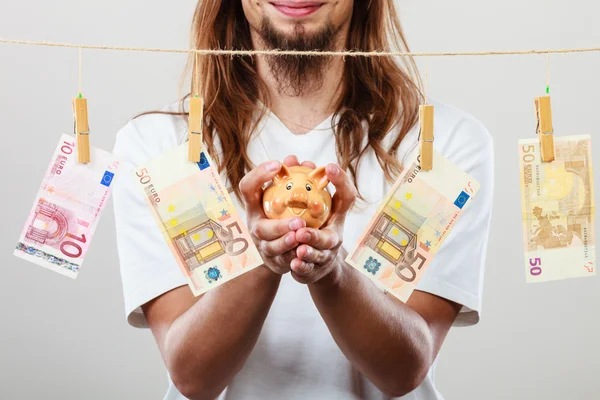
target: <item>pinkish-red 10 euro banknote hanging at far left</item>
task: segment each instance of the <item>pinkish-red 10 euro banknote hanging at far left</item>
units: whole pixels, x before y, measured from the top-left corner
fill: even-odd
[[[77,162],[76,138],[63,134],[13,254],[76,278],[119,169],[116,158],[90,147]]]

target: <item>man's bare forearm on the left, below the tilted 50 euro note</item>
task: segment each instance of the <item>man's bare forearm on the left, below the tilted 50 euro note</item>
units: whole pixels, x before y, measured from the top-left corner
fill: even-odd
[[[191,399],[213,399],[254,348],[281,277],[264,266],[215,288],[183,313],[166,338],[169,370]]]

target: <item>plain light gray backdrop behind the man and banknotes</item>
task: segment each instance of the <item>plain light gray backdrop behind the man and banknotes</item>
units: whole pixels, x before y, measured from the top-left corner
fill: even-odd
[[[2,38],[172,48],[188,47],[195,6],[1,1]],[[597,2],[399,4],[415,51],[600,45]],[[185,56],[88,50],[83,61],[92,140],[110,150],[128,118],[177,99]],[[598,65],[598,53],[551,57],[557,134],[598,132]],[[481,119],[496,150],[483,320],[446,340],[437,382],[447,399],[598,398],[598,278],[525,284],[517,139],[534,137],[545,72],[540,55],[429,59],[429,95]],[[112,204],[77,280],[12,256],[59,135],[72,130],[76,91],[77,50],[0,44],[0,397],[159,399],[167,381],[154,340],[124,320]]]

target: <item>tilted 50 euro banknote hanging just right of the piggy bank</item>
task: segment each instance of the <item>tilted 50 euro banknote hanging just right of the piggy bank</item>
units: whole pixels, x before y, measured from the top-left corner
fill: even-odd
[[[346,262],[406,302],[480,184],[440,153],[434,168],[418,159],[406,168],[377,209]]]

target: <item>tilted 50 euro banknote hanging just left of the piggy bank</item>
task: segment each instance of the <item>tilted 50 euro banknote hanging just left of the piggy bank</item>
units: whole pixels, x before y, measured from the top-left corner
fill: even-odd
[[[195,296],[263,264],[206,152],[189,162],[184,143],[132,173]]]

